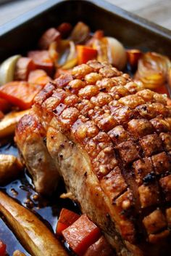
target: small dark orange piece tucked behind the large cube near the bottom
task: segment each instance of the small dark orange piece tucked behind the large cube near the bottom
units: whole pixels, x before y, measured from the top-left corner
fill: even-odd
[[[61,236],[62,231],[65,228],[69,227],[75,220],[78,220],[80,215],[77,215],[75,212],[70,211],[69,209],[62,209],[59,215],[59,220],[57,223],[56,233]]]

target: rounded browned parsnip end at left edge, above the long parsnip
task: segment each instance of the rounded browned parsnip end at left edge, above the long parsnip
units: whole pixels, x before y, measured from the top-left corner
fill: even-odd
[[[0,155],[0,185],[17,177],[22,170],[22,164],[17,157]]]

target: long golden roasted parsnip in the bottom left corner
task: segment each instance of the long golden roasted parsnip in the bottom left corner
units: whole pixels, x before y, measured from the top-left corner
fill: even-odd
[[[32,256],[67,256],[59,241],[38,217],[0,191],[0,212]]]

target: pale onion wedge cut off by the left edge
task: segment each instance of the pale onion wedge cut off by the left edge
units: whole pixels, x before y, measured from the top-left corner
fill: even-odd
[[[17,63],[17,60],[21,55],[14,55],[9,57],[7,60],[4,60],[0,66],[0,86],[6,84],[9,81],[14,79],[14,70]]]

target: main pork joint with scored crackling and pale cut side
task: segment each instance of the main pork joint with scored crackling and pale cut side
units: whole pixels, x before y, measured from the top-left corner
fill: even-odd
[[[46,131],[67,190],[117,255],[170,255],[171,115],[165,95],[142,90],[128,74],[94,60],[47,84],[32,115]],[[27,163],[19,141],[25,119],[16,138]],[[54,187],[57,180],[51,181]]]

